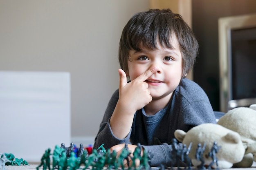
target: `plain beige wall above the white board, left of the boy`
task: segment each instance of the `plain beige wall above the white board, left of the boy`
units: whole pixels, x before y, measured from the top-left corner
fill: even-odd
[[[121,31],[148,8],[148,0],[1,0],[0,70],[70,72],[71,135],[94,137],[119,85]]]

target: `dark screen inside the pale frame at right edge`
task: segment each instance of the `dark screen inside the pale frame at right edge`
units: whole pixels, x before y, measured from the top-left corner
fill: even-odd
[[[232,98],[256,98],[256,28],[231,30]]]

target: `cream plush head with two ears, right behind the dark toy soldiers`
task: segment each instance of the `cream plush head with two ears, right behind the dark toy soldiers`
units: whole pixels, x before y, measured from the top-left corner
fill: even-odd
[[[204,160],[204,166],[209,166],[214,161],[210,154],[213,143],[215,142],[220,146],[216,153],[218,167],[214,163],[211,168],[231,168],[234,163],[242,161],[245,154],[245,147],[240,135],[218,124],[201,124],[191,128],[188,132],[175,130],[174,135],[178,141],[186,144],[186,146],[192,143],[189,157],[193,166],[199,169],[202,169],[200,168],[202,162],[200,158],[197,159],[196,157],[200,152],[198,144],[201,145],[201,149],[203,148],[201,151],[203,151],[202,160]]]

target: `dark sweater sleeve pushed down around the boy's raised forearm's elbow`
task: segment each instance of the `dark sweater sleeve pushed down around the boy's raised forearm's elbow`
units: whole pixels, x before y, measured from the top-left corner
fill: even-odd
[[[99,127],[99,132],[94,139],[93,148],[95,149],[99,148],[99,146],[101,146],[102,144],[104,144],[105,149],[111,148],[112,146],[115,146],[117,144],[130,144],[129,139],[131,130],[125,139],[118,139],[117,137],[115,137],[110,127],[110,117],[112,116],[115,110],[115,106],[117,104],[118,99],[119,95],[117,90],[108,102],[108,106],[106,108],[105,114]]]

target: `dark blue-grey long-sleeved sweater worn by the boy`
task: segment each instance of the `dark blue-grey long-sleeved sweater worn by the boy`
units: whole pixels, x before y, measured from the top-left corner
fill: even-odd
[[[94,148],[105,144],[108,149],[117,144],[140,143],[144,149],[153,153],[151,166],[161,163],[171,166],[171,141],[174,131],[187,132],[194,126],[216,123],[216,118],[207,95],[203,89],[189,79],[182,79],[166,106],[153,116],[147,116],[144,109],[138,110],[133,119],[130,133],[125,139],[116,138],[110,128],[109,119],[118,101],[118,90],[112,95],[95,137]]]

